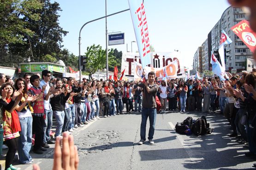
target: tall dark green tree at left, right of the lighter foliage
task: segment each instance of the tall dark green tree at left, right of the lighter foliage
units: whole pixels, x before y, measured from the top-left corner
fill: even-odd
[[[26,28],[30,29],[35,34],[24,34],[23,41],[26,43],[20,43],[11,45],[10,49],[14,54],[22,54],[23,56],[33,56],[31,60],[33,62],[45,62],[44,57],[51,55],[52,57],[60,57],[63,53],[61,48],[62,36],[65,36],[68,32],[63,30],[58,21],[61,11],[60,5],[57,2],[51,3],[50,0],[42,0],[42,9],[31,10],[30,13],[40,14],[39,20],[31,20],[27,14],[24,14],[22,18],[23,22],[26,22]],[[17,48],[18,46],[18,48]],[[32,51],[32,52],[31,52]],[[65,51],[64,51],[65,52]]]

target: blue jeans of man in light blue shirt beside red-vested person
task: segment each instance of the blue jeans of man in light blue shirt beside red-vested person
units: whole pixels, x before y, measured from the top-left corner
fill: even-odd
[[[43,143],[47,143],[47,141],[51,140],[51,128],[53,125],[53,111],[44,109],[45,114],[45,125],[43,125]]]

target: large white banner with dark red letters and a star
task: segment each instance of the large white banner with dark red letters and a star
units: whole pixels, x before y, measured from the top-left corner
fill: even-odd
[[[153,68],[163,68],[177,60],[177,78],[185,78],[184,66],[178,52],[150,52],[150,55],[152,56],[151,67]],[[139,53],[123,53],[121,70],[125,69],[126,77],[134,77],[134,62],[141,63]]]

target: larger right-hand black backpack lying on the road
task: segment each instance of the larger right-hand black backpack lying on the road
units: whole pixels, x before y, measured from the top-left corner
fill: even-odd
[[[201,118],[196,119],[193,123],[192,132],[196,136],[211,134],[213,129],[209,128],[209,126],[210,125],[207,123],[206,117],[202,116]]]

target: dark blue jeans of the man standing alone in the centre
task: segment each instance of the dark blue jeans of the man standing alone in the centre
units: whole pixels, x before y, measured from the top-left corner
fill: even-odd
[[[155,132],[155,119],[156,119],[156,108],[142,108],[141,113],[141,125],[140,125],[140,138],[146,141],[146,125],[149,117],[149,137],[153,139]]]

